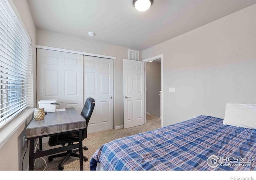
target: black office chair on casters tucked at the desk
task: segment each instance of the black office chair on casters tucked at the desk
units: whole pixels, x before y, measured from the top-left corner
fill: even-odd
[[[88,122],[92,116],[94,106],[95,106],[94,98],[87,98],[86,102],[84,103],[84,108],[81,112],[81,115],[84,117],[84,119],[86,119],[87,127],[88,127]],[[82,131],[82,133],[83,133],[83,140],[84,140],[85,138],[87,138],[87,128],[85,128]],[[79,132],[72,132],[72,133],[67,133],[67,134],[50,136],[48,144],[49,144],[49,146],[56,146],[56,145],[60,145],[60,144],[62,146],[64,146],[65,144],[72,145],[74,142],[79,142]],[[88,148],[86,146],[83,146],[83,149],[88,150]],[[79,148],[74,149],[74,150],[68,150],[67,152],[61,153],[61,154],[54,154],[52,156],[49,156],[48,160],[52,161],[53,158],[65,156],[65,158],[62,160],[62,162],[59,164],[59,170],[63,170],[64,169],[63,164],[66,162],[66,160],[70,156],[79,158],[79,154],[76,153],[78,151],[79,151]],[[88,161],[88,158],[86,158],[86,156],[83,156],[83,159],[84,159],[84,161]]]

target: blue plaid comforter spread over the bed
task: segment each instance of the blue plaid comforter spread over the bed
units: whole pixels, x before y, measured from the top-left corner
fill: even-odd
[[[198,116],[103,144],[90,170],[256,170],[255,156],[256,130]]]

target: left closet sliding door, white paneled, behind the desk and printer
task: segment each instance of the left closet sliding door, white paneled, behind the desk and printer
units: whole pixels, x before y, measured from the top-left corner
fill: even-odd
[[[83,55],[54,50],[37,50],[37,99],[56,99],[60,108],[83,104]]]

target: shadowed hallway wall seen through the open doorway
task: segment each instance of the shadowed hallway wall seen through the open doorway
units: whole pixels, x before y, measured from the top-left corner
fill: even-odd
[[[147,112],[160,117],[161,62],[146,62]]]

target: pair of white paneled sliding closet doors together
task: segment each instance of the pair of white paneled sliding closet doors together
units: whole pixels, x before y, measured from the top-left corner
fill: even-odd
[[[56,99],[60,108],[74,107],[80,113],[87,98],[96,106],[88,132],[113,128],[113,59],[40,49],[38,59],[38,100]]]

